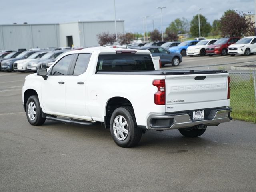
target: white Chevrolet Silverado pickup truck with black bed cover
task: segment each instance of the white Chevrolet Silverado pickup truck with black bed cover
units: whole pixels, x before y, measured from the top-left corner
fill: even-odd
[[[136,146],[145,130],[178,129],[186,137],[230,121],[226,70],[155,70],[146,50],[87,48],[66,52],[26,77],[28,122],[45,120],[110,128],[121,147]]]

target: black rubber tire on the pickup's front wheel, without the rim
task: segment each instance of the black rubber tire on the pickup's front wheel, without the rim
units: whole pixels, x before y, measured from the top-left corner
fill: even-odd
[[[35,112],[36,112],[36,115],[34,117],[34,120],[32,120],[30,118],[31,116],[31,113],[30,113],[30,109],[28,108],[28,106],[33,103],[34,106],[35,106]],[[28,98],[28,101],[27,101],[27,104],[26,104],[26,116],[27,116],[27,119],[28,119],[28,122],[31,124],[31,125],[34,125],[34,126],[40,126],[42,124],[44,124],[45,122],[45,118],[42,117],[42,109],[40,107],[40,103],[39,103],[39,100],[38,100],[38,96],[36,95],[32,95]]]

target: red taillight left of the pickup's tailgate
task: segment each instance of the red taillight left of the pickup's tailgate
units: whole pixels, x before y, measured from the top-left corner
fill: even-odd
[[[157,87],[157,92],[155,93],[155,104],[165,105],[165,80],[154,80],[153,85]]]

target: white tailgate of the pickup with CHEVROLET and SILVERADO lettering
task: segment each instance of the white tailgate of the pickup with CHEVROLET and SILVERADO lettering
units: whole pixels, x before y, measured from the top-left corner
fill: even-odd
[[[228,73],[166,76],[166,112],[229,105]]]

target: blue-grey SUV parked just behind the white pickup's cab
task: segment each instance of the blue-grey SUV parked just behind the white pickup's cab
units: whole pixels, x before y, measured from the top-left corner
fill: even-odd
[[[149,50],[153,57],[160,57],[162,66],[172,64],[178,66],[182,62],[182,56],[179,53],[172,53],[168,49],[160,46],[141,47],[143,50]]]

